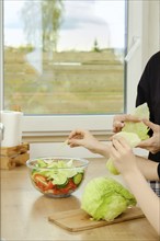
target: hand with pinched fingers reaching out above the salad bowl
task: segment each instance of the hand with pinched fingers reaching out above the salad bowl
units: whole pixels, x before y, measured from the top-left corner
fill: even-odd
[[[76,129],[68,137],[67,144],[73,147],[84,147],[93,153],[108,157],[108,147],[100,142],[89,130]]]

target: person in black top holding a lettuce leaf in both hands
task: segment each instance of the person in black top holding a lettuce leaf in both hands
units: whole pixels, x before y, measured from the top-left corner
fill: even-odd
[[[145,124],[150,128],[151,138],[144,140],[138,147],[149,150],[148,159],[160,162],[160,51],[151,56],[147,62],[137,87],[136,106],[148,104],[150,122]],[[124,127],[125,120],[134,120],[129,115],[115,116],[113,122],[114,131]],[[160,182],[150,182],[153,191],[160,196]]]

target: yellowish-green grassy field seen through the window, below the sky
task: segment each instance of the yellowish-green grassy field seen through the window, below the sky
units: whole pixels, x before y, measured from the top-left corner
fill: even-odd
[[[26,114],[121,113],[124,65],[112,49],[50,56],[7,48],[4,96],[5,108],[20,105]]]

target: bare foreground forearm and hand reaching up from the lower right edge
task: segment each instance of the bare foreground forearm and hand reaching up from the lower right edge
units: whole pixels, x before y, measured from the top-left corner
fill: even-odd
[[[119,138],[118,140],[113,139],[113,146],[111,147],[111,157],[114,161],[115,167],[122,173],[124,180],[127,182],[130,191],[135,195],[147,219],[157,230],[158,234],[160,234],[160,199],[150,188],[145,176],[140,172],[140,169],[145,163],[140,164],[141,159],[134,156],[128,144],[122,138]],[[155,180],[157,180],[158,164],[156,162],[153,163]],[[149,162],[146,162],[146,170],[150,168],[150,165],[148,164]]]

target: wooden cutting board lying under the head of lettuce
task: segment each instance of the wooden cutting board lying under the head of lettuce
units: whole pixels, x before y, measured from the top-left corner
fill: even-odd
[[[124,214],[115,218],[113,221],[92,220],[91,217],[82,209],[58,211],[49,216],[48,220],[68,231],[77,232],[144,217],[145,215],[138,207],[133,207],[128,208]]]

